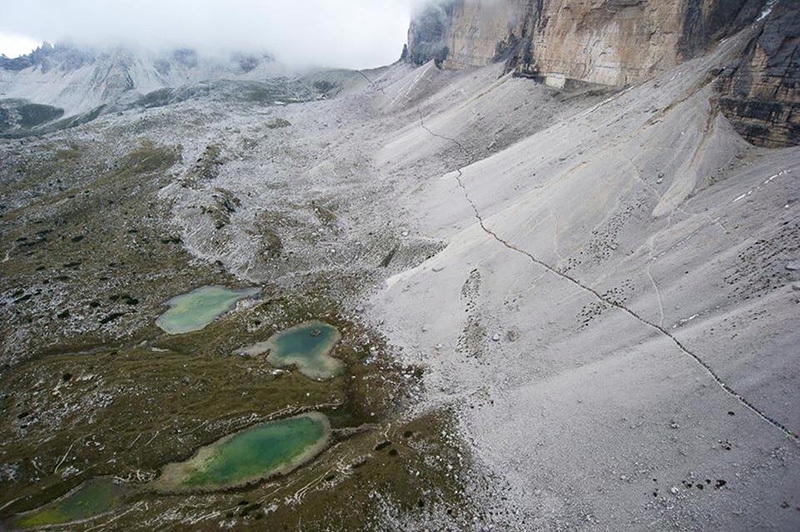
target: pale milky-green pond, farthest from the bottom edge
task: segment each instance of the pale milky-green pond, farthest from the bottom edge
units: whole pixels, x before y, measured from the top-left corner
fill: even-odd
[[[170,309],[156,320],[156,325],[169,334],[199,331],[231,310],[240,299],[258,292],[257,288],[231,290],[224,286],[204,286],[167,301]]]

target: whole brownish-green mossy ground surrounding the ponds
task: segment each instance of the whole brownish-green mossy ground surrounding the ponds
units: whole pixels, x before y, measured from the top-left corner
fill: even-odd
[[[83,148],[52,153],[28,166],[21,160],[39,174],[23,172],[9,186],[21,190],[25,180],[55,175],[65,176],[62,184],[0,220],[0,249],[8,250],[0,280],[0,519],[98,476],[136,487],[112,517],[120,528],[207,529],[225,521],[235,529],[298,522],[361,529],[396,509],[458,506],[451,470],[431,464],[431,457],[458,464],[441,437],[446,420],[399,421],[421,370],[394,363],[379,332],[341,305],[362,289],[366,273],[298,272],[201,331],[166,335],[154,320],[171,297],[207,284],[244,286],[193,259],[170,230],[169,206],[157,193],[173,179],[179,147],[134,144],[96,176],[72,180],[68,169],[86,161]],[[347,365],[343,375],[319,382],[276,372],[264,357],[233,354],[310,319],[342,333],[333,355]],[[309,410],[330,418],[336,442],[285,478],[202,496],[146,488],[159,468],[203,445]]]

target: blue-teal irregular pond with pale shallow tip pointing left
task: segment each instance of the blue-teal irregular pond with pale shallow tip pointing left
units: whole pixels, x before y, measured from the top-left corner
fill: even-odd
[[[271,336],[240,353],[261,355],[269,351],[267,360],[273,366],[297,369],[312,379],[330,379],[344,371],[344,362],[330,356],[342,335],[336,327],[321,321],[301,323]]]

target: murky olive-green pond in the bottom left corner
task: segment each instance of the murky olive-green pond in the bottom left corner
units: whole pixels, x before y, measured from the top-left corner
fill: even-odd
[[[14,524],[32,528],[83,521],[110,512],[123,502],[124,495],[124,489],[111,480],[92,479],[47,506],[20,516]]]

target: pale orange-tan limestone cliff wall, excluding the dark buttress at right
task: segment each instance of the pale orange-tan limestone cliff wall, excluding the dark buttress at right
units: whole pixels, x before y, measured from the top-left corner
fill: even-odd
[[[766,1],[446,0],[415,17],[409,52],[419,62],[435,51],[450,68],[509,60],[523,75],[625,85],[705,51]],[[419,31],[434,18],[439,33]]]

